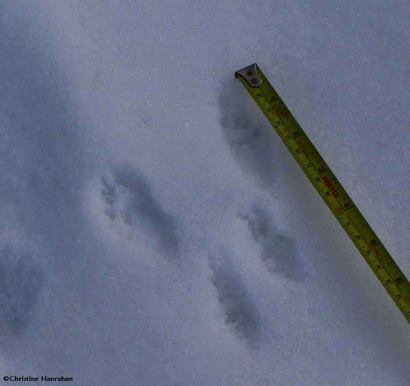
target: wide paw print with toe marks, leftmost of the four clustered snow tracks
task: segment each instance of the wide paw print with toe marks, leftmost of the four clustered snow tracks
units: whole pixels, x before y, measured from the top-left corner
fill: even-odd
[[[163,252],[175,252],[179,245],[176,219],[152,195],[149,181],[128,164],[112,166],[99,180],[104,213],[122,234],[140,231]]]

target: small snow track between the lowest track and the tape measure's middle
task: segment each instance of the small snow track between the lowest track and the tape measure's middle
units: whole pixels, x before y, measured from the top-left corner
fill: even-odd
[[[260,256],[269,272],[281,274],[287,279],[304,278],[303,261],[297,248],[296,239],[285,231],[278,230],[267,210],[253,205],[245,213],[239,213],[247,221],[254,240],[260,246]]]

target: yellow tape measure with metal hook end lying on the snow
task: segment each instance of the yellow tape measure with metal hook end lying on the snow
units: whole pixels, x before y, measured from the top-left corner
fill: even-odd
[[[256,63],[235,72],[410,323],[410,283]]]

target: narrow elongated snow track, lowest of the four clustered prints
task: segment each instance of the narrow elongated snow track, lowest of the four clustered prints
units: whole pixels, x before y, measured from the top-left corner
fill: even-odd
[[[259,334],[260,316],[247,286],[234,268],[230,256],[222,249],[210,252],[208,264],[211,282],[216,288],[224,319],[240,338],[252,345]]]

